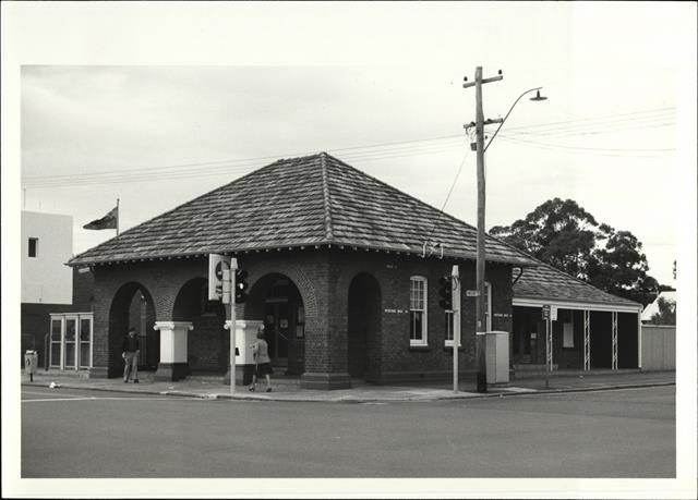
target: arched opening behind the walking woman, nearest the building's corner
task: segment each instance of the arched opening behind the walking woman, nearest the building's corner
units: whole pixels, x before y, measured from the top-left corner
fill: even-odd
[[[275,367],[288,375],[305,370],[305,308],[290,278],[275,272],[257,280],[250,290],[244,317],[264,321]]]

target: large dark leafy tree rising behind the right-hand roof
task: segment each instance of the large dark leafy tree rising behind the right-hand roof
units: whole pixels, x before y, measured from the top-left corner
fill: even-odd
[[[660,289],[647,275],[642,244],[629,231],[599,223],[573,199],[550,199],[490,233],[614,295],[647,305]]]

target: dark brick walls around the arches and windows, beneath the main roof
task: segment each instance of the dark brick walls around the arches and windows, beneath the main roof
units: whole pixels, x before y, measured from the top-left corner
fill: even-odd
[[[348,295],[351,281],[359,273],[375,278],[381,292],[377,339],[372,343],[373,357],[369,378],[387,381],[396,378],[447,376],[453,367],[453,349],[445,347],[445,315],[438,306],[438,278],[450,273],[453,260],[422,259],[417,256],[352,251],[293,249],[248,253],[238,256],[238,264],[249,272],[250,301],[237,305],[240,319],[262,319],[255,284],[270,272],[288,277],[298,288],[305,308],[304,365],[306,373],[348,373]],[[473,261],[461,261],[464,290],[474,289]],[[111,266],[98,266],[95,271],[95,366],[104,375],[118,375],[120,330],[125,328],[119,315],[139,286],[153,304],[156,320],[171,320],[180,290],[192,279],[206,279],[207,258],[154,260]],[[410,277],[428,279],[428,345],[410,347],[409,298]],[[486,280],[493,286],[494,330],[512,329],[510,266],[489,264]],[[459,366],[474,369],[474,298],[462,294],[462,349]],[[183,319],[183,318],[178,318]],[[189,353],[198,366],[220,367],[221,357],[212,351],[221,349],[215,318],[194,320],[189,334]],[[111,328],[112,338],[107,336]],[[225,337],[225,336],[224,336]],[[225,342],[225,340],[224,340]],[[226,353],[227,364],[227,349]],[[376,366],[378,365],[378,366]],[[96,370],[99,371],[99,370]]]

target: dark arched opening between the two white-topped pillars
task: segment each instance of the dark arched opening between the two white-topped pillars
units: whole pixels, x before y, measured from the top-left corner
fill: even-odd
[[[172,308],[173,321],[190,321],[186,363],[194,374],[225,374],[228,369],[230,337],[225,329],[226,309],[220,301],[208,300],[208,281],[189,280],[180,289]]]

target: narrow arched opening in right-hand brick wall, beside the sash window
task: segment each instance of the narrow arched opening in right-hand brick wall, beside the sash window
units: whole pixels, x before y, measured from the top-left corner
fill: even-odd
[[[371,380],[380,370],[381,286],[365,272],[349,284],[347,306],[349,376]]]

